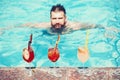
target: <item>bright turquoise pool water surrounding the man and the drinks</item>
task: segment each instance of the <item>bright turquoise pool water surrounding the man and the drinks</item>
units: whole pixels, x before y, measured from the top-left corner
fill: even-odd
[[[31,66],[49,67],[54,64],[47,57],[55,46],[57,35],[45,29],[20,26],[25,23],[48,22],[52,5],[61,3],[70,21],[101,24],[110,29],[89,29],[90,58],[86,67],[120,66],[120,0],[1,0],[0,1],[0,67],[25,67],[22,50],[33,34],[35,58]],[[117,30],[116,30],[117,29]],[[77,58],[78,47],[84,46],[86,30],[60,35],[60,58],[55,66],[82,67]]]

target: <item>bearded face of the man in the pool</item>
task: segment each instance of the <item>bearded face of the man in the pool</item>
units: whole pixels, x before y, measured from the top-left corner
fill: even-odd
[[[66,16],[63,11],[51,12],[51,25],[55,29],[60,29],[65,26]]]

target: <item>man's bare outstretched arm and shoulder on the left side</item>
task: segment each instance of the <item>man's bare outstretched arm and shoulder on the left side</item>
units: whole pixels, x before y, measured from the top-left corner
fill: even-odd
[[[41,23],[25,23],[22,26],[34,27],[34,28],[47,28],[50,27],[50,22],[41,22]]]

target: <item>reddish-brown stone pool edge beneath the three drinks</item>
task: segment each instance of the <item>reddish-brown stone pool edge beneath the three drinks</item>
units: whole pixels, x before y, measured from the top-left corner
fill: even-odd
[[[0,68],[0,80],[120,80],[120,68]]]

